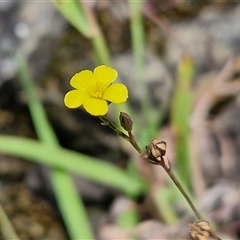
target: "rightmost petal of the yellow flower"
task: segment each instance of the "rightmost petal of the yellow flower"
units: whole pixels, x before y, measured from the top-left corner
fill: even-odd
[[[127,87],[121,83],[110,85],[103,94],[103,99],[113,103],[123,103],[128,98]]]

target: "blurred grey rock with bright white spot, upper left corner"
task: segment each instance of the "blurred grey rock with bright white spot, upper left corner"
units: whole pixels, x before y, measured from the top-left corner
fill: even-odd
[[[37,76],[46,67],[66,21],[49,1],[0,3],[0,84],[16,75],[12,58],[20,51]]]

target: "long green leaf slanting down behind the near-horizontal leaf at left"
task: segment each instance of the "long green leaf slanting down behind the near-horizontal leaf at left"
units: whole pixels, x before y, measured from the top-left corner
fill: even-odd
[[[37,135],[44,145],[55,149],[59,146],[58,139],[47,119],[44,108],[37,97],[33,82],[28,73],[25,59],[22,58],[21,55],[17,55],[16,59],[19,65],[20,79],[28,98],[28,106]],[[26,145],[25,147],[30,146]],[[50,151],[48,154],[51,154]],[[70,237],[72,239],[93,239],[93,233],[91,231],[82,199],[79,196],[77,188],[73,184],[69,173],[64,172],[64,169],[51,168],[50,179],[58,206]],[[70,204],[70,202],[72,204]],[[82,226],[84,226],[83,228],[80,228],[77,225],[79,222],[81,222]]]

